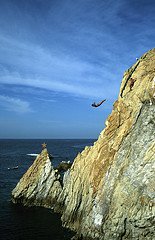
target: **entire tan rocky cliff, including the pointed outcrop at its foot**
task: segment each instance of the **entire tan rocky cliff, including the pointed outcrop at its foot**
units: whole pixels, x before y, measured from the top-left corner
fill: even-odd
[[[63,187],[51,168],[36,159],[14,201],[59,206],[63,225],[81,238],[155,239],[155,49],[125,72],[105,129],[75,158]]]

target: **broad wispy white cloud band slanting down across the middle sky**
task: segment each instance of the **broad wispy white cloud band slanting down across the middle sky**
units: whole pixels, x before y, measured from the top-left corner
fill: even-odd
[[[6,36],[0,37],[0,51],[2,84],[83,97],[112,96],[116,94],[112,89],[118,89],[118,83],[114,81],[116,72],[106,71],[105,65],[91,63],[66,52],[48,51],[37,44],[26,44]],[[11,65],[13,70],[6,68],[5,64]]]

